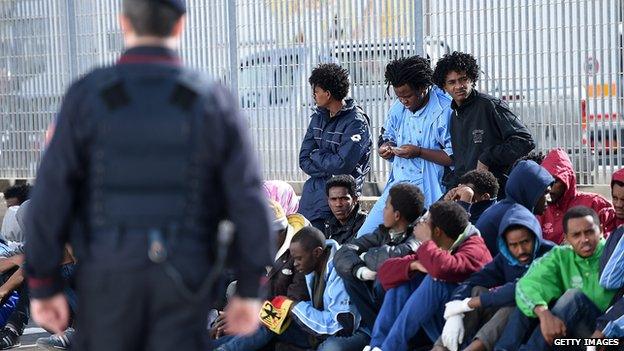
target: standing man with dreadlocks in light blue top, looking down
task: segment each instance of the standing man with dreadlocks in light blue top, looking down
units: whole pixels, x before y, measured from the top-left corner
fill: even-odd
[[[388,183],[358,237],[372,233],[383,222],[390,188],[409,182],[425,194],[429,207],[444,193],[444,167],[452,164],[449,119],[451,100],[431,77],[429,61],[420,56],[400,58],[386,66],[386,83],[397,96],[388,111],[379,140],[379,156],[392,163]]]

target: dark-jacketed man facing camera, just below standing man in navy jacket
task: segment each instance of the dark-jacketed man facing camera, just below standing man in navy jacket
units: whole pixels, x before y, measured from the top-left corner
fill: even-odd
[[[325,237],[343,245],[355,239],[366,220],[366,212],[360,211],[357,184],[350,175],[338,175],[325,184],[325,194],[332,215],[325,221]]]

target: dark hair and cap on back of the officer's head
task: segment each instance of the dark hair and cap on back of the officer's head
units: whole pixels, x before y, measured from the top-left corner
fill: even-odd
[[[153,0],[123,0],[123,14],[137,35],[165,38],[182,14],[171,6]]]

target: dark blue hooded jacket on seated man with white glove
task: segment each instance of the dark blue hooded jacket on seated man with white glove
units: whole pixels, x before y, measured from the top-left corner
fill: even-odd
[[[555,246],[554,243],[542,238],[542,228],[537,218],[524,206],[513,204],[507,210],[499,226],[498,247],[500,251],[498,255],[482,270],[471,275],[468,280],[457,287],[451,300],[463,300],[470,297],[472,288],[481,286],[490,289],[490,291],[480,295],[481,305],[484,308],[515,305],[516,281],[529,268],[529,266],[521,265],[509,252],[503,237],[507,228],[515,225],[528,228],[535,235],[533,260],[542,257]]]

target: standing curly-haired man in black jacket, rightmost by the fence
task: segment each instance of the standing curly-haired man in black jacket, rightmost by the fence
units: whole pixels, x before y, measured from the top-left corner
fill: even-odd
[[[455,170],[446,179],[447,188],[457,186],[459,178],[473,169],[492,172],[505,197],[505,183],[511,166],[535,147],[531,133],[502,100],[474,89],[479,79],[475,58],[453,52],[440,59],[433,81],[453,98],[451,143]]]

